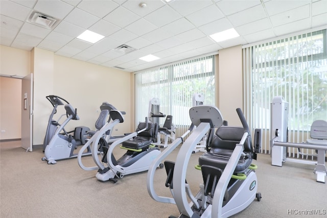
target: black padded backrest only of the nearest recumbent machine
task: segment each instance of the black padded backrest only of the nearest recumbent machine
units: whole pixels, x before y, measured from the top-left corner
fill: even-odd
[[[213,149],[227,149],[234,150],[237,143],[241,141],[244,134],[243,127],[221,126],[217,129],[208,147]],[[248,135],[244,142],[244,152],[252,152],[252,140]]]

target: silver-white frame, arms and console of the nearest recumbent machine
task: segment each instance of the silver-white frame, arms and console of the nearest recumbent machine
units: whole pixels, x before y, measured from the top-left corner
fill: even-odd
[[[197,199],[203,193],[204,185],[200,185],[200,191],[196,197],[192,195],[190,187],[185,183],[186,169],[192,154],[193,149],[211,128],[219,128],[223,124],[223,118],[219,109],[215,106],[196,106],[190,109],[190,117],[192,125],[197,128],[192,130],[191,128],[180,138],[174,140],[168,148],[165,149],[151,164],[148,176],[147,176],[147,188],[149,195],[152,199],[162,203],[176,204],[180,211],[179,217],[200,217],[193,210],[192,206],[199,208]],[[212,118],[212,119],[211,119]],[[209,121],[210,119],[210,121]],[[183,138],[192,131],[192,134],[183,142]],[[215,195],[212,204],[206,207],[201,218],[208,217],[228,217],[244,210],[256,197],[256,175],[254,171],[247,175],[247,181],[241,184],[237,192],[227,204],[223,206],[224,193],[227,189],[228,183],[231,179],[233,172],[238,164],[238,160],[244,151],[244,142],[248,136],[245,132],[240,143],[238,143],[233,150],[232,155],[218,181],[215,189]],[[164,160],[180,143],[182,146],[177,154],[176,163],[174,167],[173,186],[172,191],[173,198],[158,196],[154,190],[154,173],[158,163]],[[249,187],[251,187],[249,189]],[[187,196],[186,196],[187,195]],[[203,195],[202,195],[203,196]],[[191,202],[188,201],[188,197]],[[205,206],[205,203],[201,205]]]

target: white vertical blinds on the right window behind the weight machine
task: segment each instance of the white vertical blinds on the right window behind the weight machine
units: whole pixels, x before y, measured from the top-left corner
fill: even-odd
[[[262,152],[269,152],[270,103],[283,96],[289,103],[288,141],[310,137],[314,120],[327,120],[326,30],[298,34],[243,49],[246,118],[263,131]],[[306,154],[306,155],[303,155]],[[288,148],[288,155],[313,159],[313,150]]]

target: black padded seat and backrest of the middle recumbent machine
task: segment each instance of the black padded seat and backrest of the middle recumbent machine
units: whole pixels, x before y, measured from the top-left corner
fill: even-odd
[[[136,132],[144,129],[146,127],[145,122],[138,124]],[[122,143],[122,146],[129,149],[144,149],[148,148],[150,144],[154,141],[156,137],[158,128],[154,123],[148,123],[148,128],[137,134],[134,138],[128,139]]]

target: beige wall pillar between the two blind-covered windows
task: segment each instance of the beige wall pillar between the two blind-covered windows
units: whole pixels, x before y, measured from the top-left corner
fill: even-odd
[[[230,126],[241,126],[236,108],[243,110],[242,46],[219,50],[218,106]]]

